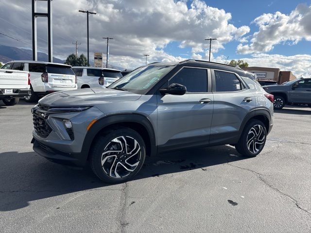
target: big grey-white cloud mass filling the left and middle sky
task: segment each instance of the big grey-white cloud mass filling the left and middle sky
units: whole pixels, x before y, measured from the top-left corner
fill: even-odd
[[[180,47],[190,47],[192,53],[206,52],[208,43],[213,41],[212,52],[224,49],[226,43],[249,32],[248,26],[240,28],[229,23],[231,14],[225,10],[207,6],[202,0],[53,0],[53,50],[65,57],[75,51],[71,44],[78,40],[79,53],[86,54],[86,14],[78,10],[97,12],[89,16],[90,57],[95,51],[105,51],[104,36],[113,37],[110,44],[109,61],[116,66],[137,67],[144,64],[144,53],[150,54],[148,60],[175,61],[164,50],[172,41]],[[12,12],[14,9],[14,12]],[[20,0],[4,1],[0,17],[19,25],[29,33],[18,28],[0,24],[0,31],[31,44],[31,3]],[[43,8],[40,5],[39,10]],[[38,36],[46,38],[46,25],[38,21]],[[0,37],[0,44],[15,46],[16,41]],[[38,39],[38,46],[47,48],[46,42]],[[18,44],[17,47],[24,46]],[[28,46],[29,47],[29,46]],[[64,57],[62,57],[64,59]]]

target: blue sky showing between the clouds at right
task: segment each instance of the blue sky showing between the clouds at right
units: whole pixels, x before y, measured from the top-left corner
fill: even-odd
[[[205,0],[208,6],[212,6],[218,9],[224,9],[225,12],[231,13],[231,20],[229,23],[234,24],[236,27],[241,27],[247,25],[250,28],[251,35],[258,31],[258,26],[252,21],[261,16],[264,13],[272,13],[279,11],[283,14],[290,14],[299,3],[305,3],[311,5],[311,0]],[[188,7],[190,7],[191,1],[187,2]],[[310,22],[311,23],[311,22]],[[225,58],[228,56],[228,60],[231,59],[241,59],[244,57],[251,57],[251,55],[237,54],[236,49],[240,42],[231,41],[224,45],[225,49],[219,50],[214,53],[214,57],[224,55]],[[185,58],[191,58],[191,48],[179,48],[179,42],[173,41],[165,47],[165,51],[173,56],[182,56]],[[209,41],[207,41],[206,48],[209,47]],[[311,42],[302,39],[296,45],[289,45],[289,43],[281,43],[275,45],[274,49],[266,52],[268,54],[282,54],[285,56],[292,56],[301,53],[310,53],[311,50],[306,48],[311,48]],[[200,53],[203,55],[204,53]]]

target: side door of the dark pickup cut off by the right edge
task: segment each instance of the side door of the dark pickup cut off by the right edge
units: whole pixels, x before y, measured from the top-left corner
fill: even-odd
[[[298,81],[298,86],[290,90],[290,101],[311,103],[311,79]]]

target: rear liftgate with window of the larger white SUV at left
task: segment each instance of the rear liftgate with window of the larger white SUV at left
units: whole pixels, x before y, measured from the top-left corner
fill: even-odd
[[[47,64],[48,83],[50,87],[74,88],[75,74],[69,66]]]

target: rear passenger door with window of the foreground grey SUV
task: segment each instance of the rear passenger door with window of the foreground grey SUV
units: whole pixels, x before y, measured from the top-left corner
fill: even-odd
[[[255,96],[236,73],[211,72],[214,110],[209,142],[235,140],[244,117],[256,107]]]

